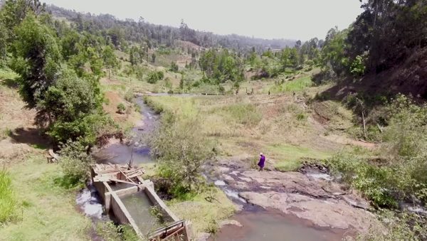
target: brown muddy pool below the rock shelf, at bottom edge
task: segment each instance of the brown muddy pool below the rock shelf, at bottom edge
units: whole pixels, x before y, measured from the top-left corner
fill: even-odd
[[[320,241],[342,240],[343,233],[320,230],[303,223],[292,215],[283,215],[275,210],[243,210],[233,215],[243,227],[226,225],[221,228],[213,241]]]

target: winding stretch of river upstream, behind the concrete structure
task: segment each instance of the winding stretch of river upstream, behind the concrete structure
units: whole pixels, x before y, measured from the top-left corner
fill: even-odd
[[[142,98],[135,99],[141,109],[143,123],[132,129],[132,138],[129,143],[108,144],[97,151],[93,156],[101,164],[127,164],[132,159],[132,165],[154,162],[149,155],[147,136],[154,130],[159,116],[152,109],[144,105]]]

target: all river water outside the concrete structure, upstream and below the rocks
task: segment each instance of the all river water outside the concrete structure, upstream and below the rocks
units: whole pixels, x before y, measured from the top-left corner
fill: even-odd
[[[147,107],[142,101],[142,97],[135,99],[141,109],[143,125],[132,129],[132,139],[129,143],[120,142],[108,144],[97,151],[93,156],[98,163],[127,164],[132,159],[133,165],[152,163],[153,159],[149,155],[147,145],[147,135],[151,134],[159,116]],[[256,205],[246,203],[238,196],[238,192],[226,185],[225,182],[209,176],[206,178],[212,181],[226,193],[228,198],[243,207],[230,219],[237,220],[243,227],[235,225],[224,225],[221,230],[210,240],[341,240],[343,233],[337,230],[319,228],[308,223],[306,220],[296,218],[293,215],[283,215],[278,210],[263,209]],[[93,218],[93,220],[106,219],[107,215],[102,211],[102,205],[93,186],[88,183],[88,188],[81,191],[77,197],[77,203],[83,212]],[[132,213],[131,213],[132,214]]]

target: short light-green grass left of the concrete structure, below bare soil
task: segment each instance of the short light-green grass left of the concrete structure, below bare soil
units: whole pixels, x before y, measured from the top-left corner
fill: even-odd
[[[56,164],[31,156],[10,170],[17,221],[0,229],[0,240],[88,240],[90,220],[75,206],[77,189],[66,189]]]

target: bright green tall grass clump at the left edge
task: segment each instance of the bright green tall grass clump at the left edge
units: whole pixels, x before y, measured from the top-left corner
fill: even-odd
[[[0,224],[14,217],[16,199],[12,189],[12,181],[6,170],[0,170]]]

